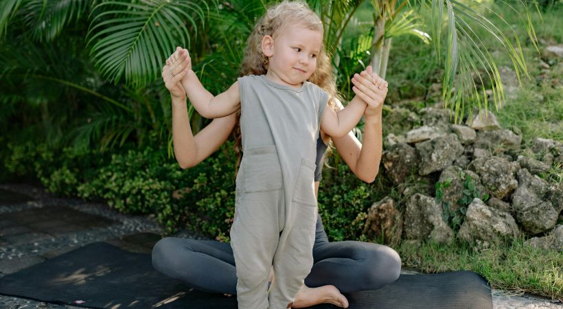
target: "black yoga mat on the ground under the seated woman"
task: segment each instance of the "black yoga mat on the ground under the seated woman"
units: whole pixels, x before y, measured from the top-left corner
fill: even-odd
[[[237,308],[236,297],[190,291],[154,271],[150,255],[130,253],[105,242],[6,275],[0,279],[0,294],[87,308]],[[470,271],[401,275],[378,290],[346,296],[352,309],[492,308],[487,282]]]

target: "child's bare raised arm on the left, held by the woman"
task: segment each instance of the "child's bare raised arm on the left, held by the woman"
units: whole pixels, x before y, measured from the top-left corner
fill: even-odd
[[[180,56],[187,57],[189,60],[189,54],[185,49],[180,51]],[[189,101],[194,104],[196,111],[205,118],[225,117],[240,109],[238,82],[232,84],[227,91],[216,96],[203,87],[198,76],[192,70],[187,72],[181,83]]]

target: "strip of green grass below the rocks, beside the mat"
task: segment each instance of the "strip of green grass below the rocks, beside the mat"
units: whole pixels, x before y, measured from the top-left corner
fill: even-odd
[[[395,249],[404,266],[424,273],[467,270],[479,273],[493,288],[516,295],[536,293],[563,299],[563,253],[524,246],[524,239],[477,251],[466,242],[454,244],[402,242]]]

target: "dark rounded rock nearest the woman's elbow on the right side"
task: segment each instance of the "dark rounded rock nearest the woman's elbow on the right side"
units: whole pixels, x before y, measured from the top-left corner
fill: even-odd
[[[396,185],[415,172],[419,159],[415,148],[399,143],[383,153],[382,161],[387,174]]]

